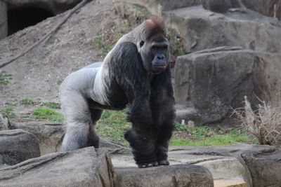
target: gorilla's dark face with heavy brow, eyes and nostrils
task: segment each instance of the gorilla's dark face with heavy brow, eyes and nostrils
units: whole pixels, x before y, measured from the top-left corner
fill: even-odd
[[[166,69],[169,64],[169,42],[165,38],[141,41],[139,47],[143,66],[148,72],[159,74]]]

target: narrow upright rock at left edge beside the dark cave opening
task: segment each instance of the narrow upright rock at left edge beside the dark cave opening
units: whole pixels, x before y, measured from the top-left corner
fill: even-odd
[[[8,35],[7,4],[0,1],[0,40]]]

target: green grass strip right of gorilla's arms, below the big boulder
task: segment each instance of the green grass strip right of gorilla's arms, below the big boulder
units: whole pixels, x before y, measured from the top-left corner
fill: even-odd
[[[236,143],[256,144],[254,137],[242,130],[221,132],[212,127],[195,127],[189,130],[194,139],[171,139],[170,146],[227,146]]]

